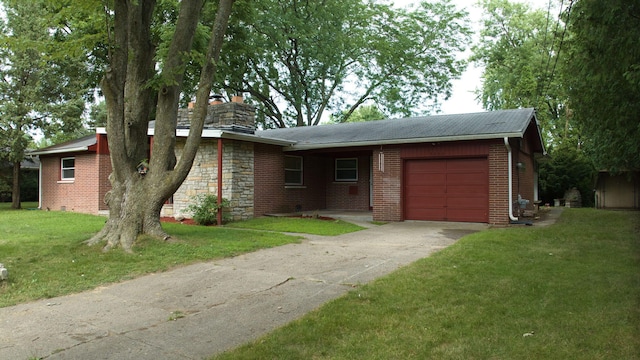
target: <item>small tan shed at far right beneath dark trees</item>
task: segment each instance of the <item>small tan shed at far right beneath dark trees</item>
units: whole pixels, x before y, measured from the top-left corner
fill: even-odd
[[[640,209],[640,173],[600,171],[596,177],[595,204],[598,209]]]

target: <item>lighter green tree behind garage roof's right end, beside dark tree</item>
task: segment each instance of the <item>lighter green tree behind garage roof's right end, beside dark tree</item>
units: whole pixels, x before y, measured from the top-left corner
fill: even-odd
[[[485,109],[535,107],[547,146],[567,139],[577,146],[561,67],[566,13],[508,0],[483,0],[483,28],[472,60],[484,67],[479,97]]]

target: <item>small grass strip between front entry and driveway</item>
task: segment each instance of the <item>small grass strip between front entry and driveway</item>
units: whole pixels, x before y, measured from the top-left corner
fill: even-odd
[[[226,227],[335,236],[364,229],[342,220],[297,217],[261,217],[230,223]]]

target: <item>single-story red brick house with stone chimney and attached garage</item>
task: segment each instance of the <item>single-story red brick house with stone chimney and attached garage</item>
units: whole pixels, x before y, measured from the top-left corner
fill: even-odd
[[[178,157],[191,111],[180,110]],[[209,106],[191,172],[163,216],[189,217],[195,195],[216,194],[219,168],[235,220],[329,209],[504,226],[538,199],[536,157],[545,150],[534,109],[273,130],[256,130],[254,117],[241,101]],[[104,129],[36,154],[41,208],[108,211]]]

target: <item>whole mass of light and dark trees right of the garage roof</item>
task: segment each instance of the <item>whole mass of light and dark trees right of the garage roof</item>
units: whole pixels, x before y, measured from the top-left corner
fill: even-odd
[[[640,169],[640,4],[550,0],[546,9],[484,0],[472,61],[488,110],[535,107],[549,157],[543,200],[577,187],[593,204],[594,174]]]

